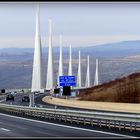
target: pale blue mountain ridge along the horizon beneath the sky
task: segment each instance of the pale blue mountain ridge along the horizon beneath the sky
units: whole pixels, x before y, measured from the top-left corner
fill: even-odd
[[[73,47],[73,54],[81,50],[82,55],[92,55],[95,57],[124,57],[140,54],[140,40],[121,41],[87,47]],[[22,55],[33,54],[34,48],[1,48],[0,55]],[[48,47],[43,47],[43,54],[48,53]],[[53,47],[53,53],[59,53],[59,47]],[[63,47],[63,53],[69,54],[69,48]]]

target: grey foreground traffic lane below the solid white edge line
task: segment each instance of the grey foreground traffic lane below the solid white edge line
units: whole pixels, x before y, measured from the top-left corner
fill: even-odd
[[[125,137],[113,133],[41,122],[0,113],[1,137]]]

